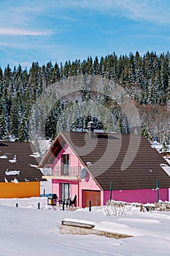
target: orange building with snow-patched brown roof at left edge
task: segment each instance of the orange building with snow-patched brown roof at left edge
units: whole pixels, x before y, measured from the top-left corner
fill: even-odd
[[[28,142],[0,142],[0,197],[39,197],[39,154]]]

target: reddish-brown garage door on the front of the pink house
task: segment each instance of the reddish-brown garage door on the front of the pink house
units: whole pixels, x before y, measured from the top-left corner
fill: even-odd
[[[85,207],[89,206],[89,200],[91,201],[91,206],[101,206],[101,192],[94,190],[84,190]]]

